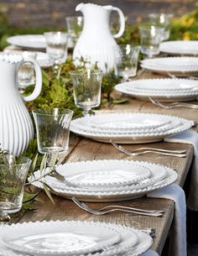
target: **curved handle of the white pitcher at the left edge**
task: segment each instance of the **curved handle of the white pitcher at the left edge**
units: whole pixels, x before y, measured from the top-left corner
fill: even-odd
[[[23,62],[30,62],[34,66],[35,76],[36,76],[36,83],[34,86],[34,91],[29,96],[22,96],[25,102],[34,101],[35,98],[39,97],[40,91],[42,89],[42,73],[40,66],[36,60],[31,57],[23,57]]]

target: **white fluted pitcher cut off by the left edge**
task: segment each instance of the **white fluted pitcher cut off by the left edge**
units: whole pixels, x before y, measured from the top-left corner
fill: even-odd
[[[18,67],[24,62],[34,66],[36,82],[34,91],[23,97],[18,91]],[[39,97],[42,75],[39,64],[30,57],[0,53],[0,148],[12,154],[22,154],[34,137],[34,128],[23,101]]]

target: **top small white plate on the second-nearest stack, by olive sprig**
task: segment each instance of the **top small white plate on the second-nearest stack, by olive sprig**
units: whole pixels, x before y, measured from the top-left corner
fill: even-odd
[[[66,182],[79,187],[112,187],[147,179],[151,170],[131,161],[99,160],[59,165],[58,172]]]

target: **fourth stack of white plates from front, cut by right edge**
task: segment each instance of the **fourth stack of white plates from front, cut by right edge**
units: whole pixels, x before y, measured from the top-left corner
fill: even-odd
[[[198,81],[188,79],[142,79],[115,86],[117,91],[139,99],[148,97],[163,101],[190,101],[198,97]]]

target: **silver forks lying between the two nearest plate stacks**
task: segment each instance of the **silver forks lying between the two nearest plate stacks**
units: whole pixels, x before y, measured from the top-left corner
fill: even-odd
[[[125,208],[124,206],[121,208],[121,207],[117,207],[117,206],[114,206],[114,208],[112,209],[108,209],[110,207],[106,206],[106,207],[102,207],[101,209],[97,209],[97,210],[94,210],[92,209],[90,206],[87,206],[84,202],[81,202],[79,200],[76,199],[76,197],[72,197],[71,198],[72,201],[74,201],[76,203],[77,206],[81,207],[82,210],[86,211],[86,212],[90,212],[92,213],[93,215],[104,215],[104,214],[107,214],[109,212],[130,212],[130,213],[136,213],[136,214],[139,214],[139,215],[145,215],[145,216],[152,216],[152,217],[161,217],[163,216],[163,212],[164,211],[155,211],[155,212],[143,212],[143,211],[137,211],[137,210],[132,210],[132,208],[130,209],[130,207],[128,208]],[[107,210],[106,210],[107,209]],[[130,210],[129,210],[130,209]]]

